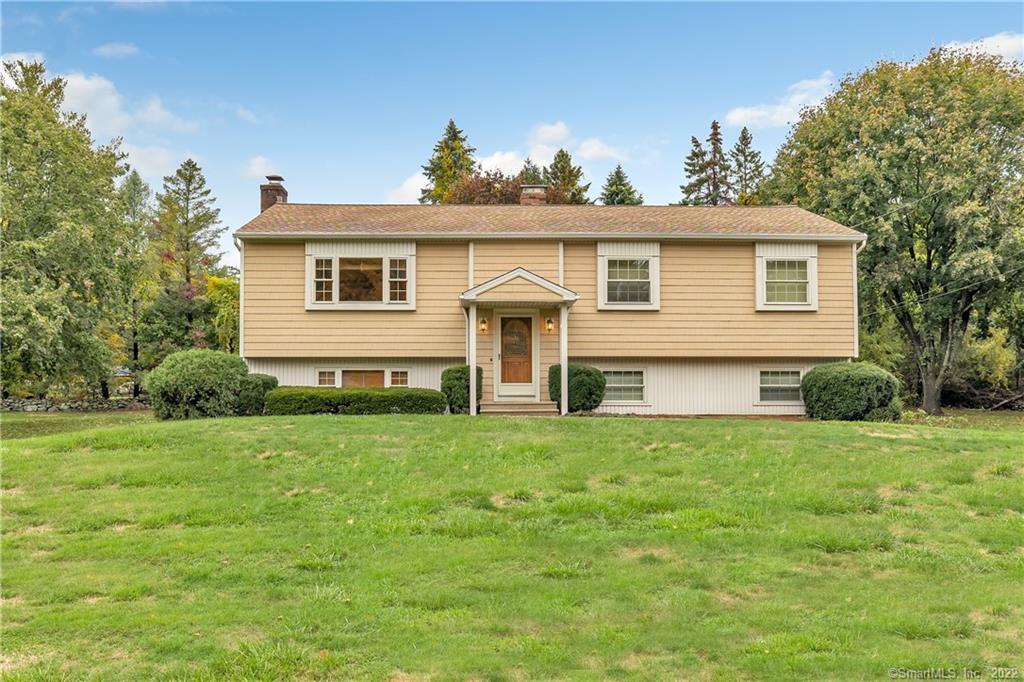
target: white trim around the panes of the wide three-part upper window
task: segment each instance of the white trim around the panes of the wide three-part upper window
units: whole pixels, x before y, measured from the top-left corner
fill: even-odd
[[[316,258],[331,258],[334,272],[334,295],[331,302],[317,302],[313,273]],[[341,258],[381,259],[380,301],[341,301]],[[406,259],[406,300],[391,302],[392,258]],[[415,310],[416,309],[416,243],[415,242],[306,242],[306,310]]]

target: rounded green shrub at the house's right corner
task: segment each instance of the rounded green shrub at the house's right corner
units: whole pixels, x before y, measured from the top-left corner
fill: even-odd
[[[801,383],[807,416],[826,420],[898,421],[899,381],[867,363],[820,365]]]

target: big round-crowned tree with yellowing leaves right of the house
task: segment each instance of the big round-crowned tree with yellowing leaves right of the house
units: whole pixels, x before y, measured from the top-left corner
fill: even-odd
[[[896,317],[937,414],[976,306],[1022,286],[1022,69],[945,49],[882,61],[803,112],[765,190],[868,233],[861,291]]]

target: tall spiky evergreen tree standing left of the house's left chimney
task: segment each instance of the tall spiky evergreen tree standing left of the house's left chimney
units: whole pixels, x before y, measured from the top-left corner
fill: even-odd
[[[206,290],[206,275],[220,258],[215,248],[226,229],[220,226],[220,209],[214,202],[202,169],[191,159],[164,178],[164,190],[157,195],[155,237],[163,262],[161,282],[166,294],[185,301],[165,309],[183,311],[184,335],[198,346],[206,345],[209,328],[209,321],[200,319],[203,315],[198,312],[208,306],[198,301]]]

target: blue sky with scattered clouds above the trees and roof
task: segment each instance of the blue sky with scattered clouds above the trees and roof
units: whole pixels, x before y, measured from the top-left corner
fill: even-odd
[[[598,194],[622,163],[679,199],[691,135],[770,160],[799,106],[880,58],[977,43],[1021,58],[1021,5],[4,2],[97,140],[159,187],[187,156],[236,229],[276,171],[294,202],[410,202],[450,117],[489,167],[565,146]],[[980,41],[980,42],[979,42]],[[230,238],[225,260],[238,262]]]

